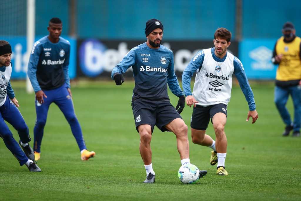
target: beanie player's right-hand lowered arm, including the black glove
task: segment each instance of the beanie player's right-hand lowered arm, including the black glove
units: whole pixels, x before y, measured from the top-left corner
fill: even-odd
[[[183,109],[185,107],[185,96],[179,85],[177,76],[175,75],[173,54],[172,54],[172,60],[169,63],[168,68],[167,68],[167,84],[168,84],[171,92],[174,95],[179,97],[178,104],[175,107],[175,109],[178,111],[179,114],[181,114],[181,112],[183,111]]]

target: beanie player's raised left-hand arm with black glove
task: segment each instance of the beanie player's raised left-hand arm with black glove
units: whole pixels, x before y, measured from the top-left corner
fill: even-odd
[[[124,82],[123,73],[135,64],[134,48],[131,49],[122,61],[113,68],[111,73],[112,80],[115,80],[116,85],[121,85]]]

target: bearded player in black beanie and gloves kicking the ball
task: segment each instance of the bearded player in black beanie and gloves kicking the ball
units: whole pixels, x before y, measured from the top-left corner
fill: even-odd
[[[174,71],[173,53],[160,45],[163,25],[160,20],[146,22],[147,42],[131,49],[123,60],[113,68],[112,79],[116,85],[124,81],[123,73],[132,66],[135,88],[132,96],[132,109],[136,129],[140,134],[140,154],[146,170],[144,183],[155,182],[152,167],[151,138],[156,125],[162,132],[172,131],[177,138],[178,152],[182,165],[190,163],[187,126],[180,113],[185,106],[185,96],[179,86]],[[173,94],[179,97],[176,108],[169,102],[167,84]],[[200,171],[200,177],[207,171]]]

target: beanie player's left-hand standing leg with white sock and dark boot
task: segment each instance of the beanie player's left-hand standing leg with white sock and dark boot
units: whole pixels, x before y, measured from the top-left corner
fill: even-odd
[[[151,162],[151,125],[142,124],[138,126],[140,134],[139,151],[146,170],[146,180],[143,183],[154,183],[155,172]]]

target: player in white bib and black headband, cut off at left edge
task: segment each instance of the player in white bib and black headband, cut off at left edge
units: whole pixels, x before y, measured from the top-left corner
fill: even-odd
[[[33,149],[28,142],[29,129],[17,107],[18,101],[15,97],[14,90],[11,88],[11,45],[0,40],[0,137],[2,137],[6,147],[19,161],[20,165],[26,165],[31,172],[40,172],[41,169],[36,165],[34,160]],[[13,137],[5,121],[10,123],[17,131],[20,137],[19,143],[24,152]]]

